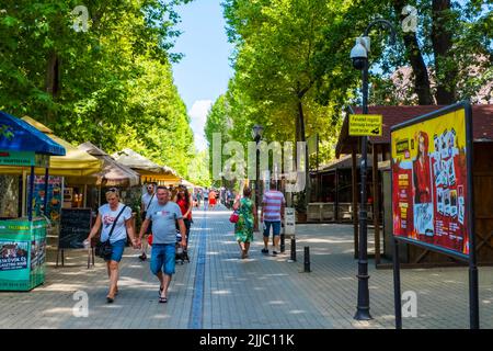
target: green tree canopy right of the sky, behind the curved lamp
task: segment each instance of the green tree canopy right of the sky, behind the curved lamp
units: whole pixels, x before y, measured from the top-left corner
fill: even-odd
[[[369,34],[370,104],[478,102],[493,73],[492,3],[226,0],[234,77],[219,99],[227,117],[218,117],[220,110],[209,117],[227,118],[228,138],[242,143],[251,140],[254,124],[265,127],[267,140],[306,140],[318,133],[330,145],[328,160],[342,111],[360,103],[360,71],[352,67],[351,48],[379,18],[393,24],[397,45],[391,47],[389,33],[378,26]],[[403,31],[408,4],[416,9],[415,32]],[[493,100],[491,91],[488,97]]]

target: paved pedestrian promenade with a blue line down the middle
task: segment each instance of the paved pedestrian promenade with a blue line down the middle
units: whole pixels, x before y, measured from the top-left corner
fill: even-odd
[[[127,248],[122,261],[119,294],[106,304],[105,264],[87,269],[84,251],[66,251],[66,265],[55,268],[49,250],[44,285],[26,293],[0,293],[0,328],[177,328],[177,329],[329,329],[393,328],[391,270],[369,261],[370,321],[355,321],[357,261],[353,227],[337,224],[297,225],[297,262],[286,252],[261,253],[255,234],[248,259],[240,250],[223,206],[195,211],[190,239],[191,262],[176,264],[168,304],[158,303],[158,280],[149,261]],[[371,237],[371,235],[370,235]],[[303,273],[302,251],[309,246],[311,272]],[[272,249],[270,247],[272,252]],[[417,296],[417,317],[403,328],[469,328],[468,268],[402,270],[402,292]],[[481,328],[493,328],[493,268],[479,269]],[[88,317],[76,317],[74,293],[89,298]]]

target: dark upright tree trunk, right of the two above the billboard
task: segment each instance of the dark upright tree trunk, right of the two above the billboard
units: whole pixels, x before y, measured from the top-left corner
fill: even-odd
[[[433,0],[432,44],[435,55],[436,102],[452,104],[456,102],[457,66],[447,67],[446,59],[451,57],[452,33],[450,24],[450,0]]]

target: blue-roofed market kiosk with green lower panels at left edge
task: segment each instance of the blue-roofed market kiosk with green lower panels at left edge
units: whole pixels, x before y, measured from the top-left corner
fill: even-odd
[[[0,112],[0,169],[31,169],[27,216],[9,213],[0,217],[0,291],[30,291],[45,281],[47,220],[33,216],[34,174],[44,168],[47,180],[49,157],[65,154],[61,145],[43,133]],[[42,208],[45,215],[47,191],[46,181]]]

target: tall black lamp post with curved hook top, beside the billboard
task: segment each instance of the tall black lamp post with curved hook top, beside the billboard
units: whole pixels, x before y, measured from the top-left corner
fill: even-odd
[[[376,20],[371,22],[363,37],[356,39],[356,45],[351,50],[351,58],[353,66],[356,69],[363,70],[363,114],[368,114],[368,53],[370,50],[370,39],[368,33],[370,29],[376,24],[383,24],[391,32],[390,43],[395,41],[395,31],[392,24],[386,20]],[[368,290],[368,230],[367,230],[367,211],[366,211],[366,173],[367,173],[367,144],[368,137],[362,137],[362,200],[359,204],[359,254],[358,254],[358,305],[357,312],[354,318],[356,320],[369,320],[372,319],[369,313],[369,290]],[[375,155],[374,155],[375,157]]]

